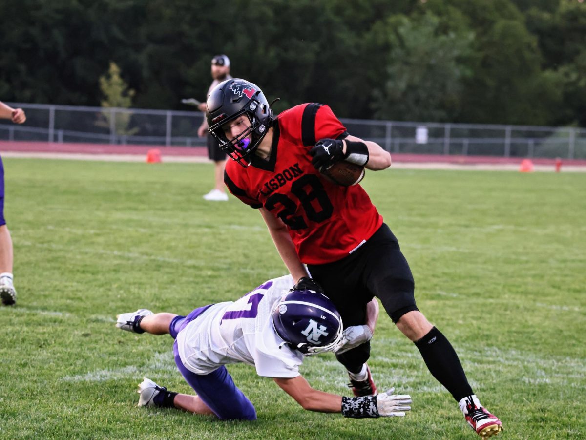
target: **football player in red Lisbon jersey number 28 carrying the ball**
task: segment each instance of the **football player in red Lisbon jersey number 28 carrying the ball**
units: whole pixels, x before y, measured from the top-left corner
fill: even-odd
[[[473,394],[448,339],[415,305],[407,260],[367,193],[360,185],[335,185],[319,172],[339,161],[386,169],[389,152],[349,135],[328,105],[301,104],[273,117],[260,88],[242,79],[218,84],[206,107],[210,133],[233,159],[226,164],[224,182],[234,196],[260,210],[298,280],[295,288],[323,288],[345,326],[372,319],[377,313],[373,298],[379,298],[471,427],[483,438],[502,431],[500,420]],[[336,353],[356,395],[376,393],[366,365],[370,337],[364,329],[356,335],[363,343]]]

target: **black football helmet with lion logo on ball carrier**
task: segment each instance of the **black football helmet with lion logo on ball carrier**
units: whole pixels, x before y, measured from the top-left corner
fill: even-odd
[[[235,139],[227,139],[222,125],[240,115],[246,115],[250,127]],[[240,78],[232,78],[218,84],[206,102],[208,131],[219,141],[231,159],[246,167],[251,155],[272,125],[272,110],[263,91],[255,84]]]

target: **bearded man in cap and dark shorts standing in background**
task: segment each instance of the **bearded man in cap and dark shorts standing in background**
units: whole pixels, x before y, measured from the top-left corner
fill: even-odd
[[[230,59],[226,55],[216,55],[212,58],[212,78],[214,79],[212,85],[207,90],[206,99],[214,87],[220,84],[222,81],[230,79]],[[197,106],[200,111],[206,111],[206,103],[201,103]],[[228,200],[226,194],[226,187],[224,186],[224,165],[226,165],[226,153],[220,148],[218,141],[213,135],[207,132],[207,119],[204,116],[202,125],[197,129],[197,135],[202,138],[207,134],[207,155],[214,164],[215,169],[215,186],[214,188],[203,196],[206,200],[212,200],[214,202],[225,202]]]

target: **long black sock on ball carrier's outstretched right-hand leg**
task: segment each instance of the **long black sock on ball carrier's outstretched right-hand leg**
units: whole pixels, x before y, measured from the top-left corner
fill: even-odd
[[[452,394],[456,402],[473,394],[458,354],[440,330],[432,328],[427,335],[415,341],[415,346],[432,376]]]

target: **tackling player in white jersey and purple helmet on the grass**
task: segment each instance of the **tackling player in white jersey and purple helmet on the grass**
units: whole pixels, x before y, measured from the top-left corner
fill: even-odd
[[[290,275],[271,279],[235,302],[195,309],[188,316],[148,309],[118,315],[116,326],[135,333],[169,333],[179,371],[197,395],[178,394],[145,378],[139,406],[179,408],[220,419],[257,418],[253,404],[236,387],[226,364],[244,362],[272,377],[303,408],[341,412],[345,417],[403,416],[408,394],[342,397],[315,390],[299,374],[304,356],[349,349],[372,336],[374,319],[342,332],[342,320],[329,299],[314,291],[288,291]],[[287,293],[285,293],[287,292]]]

